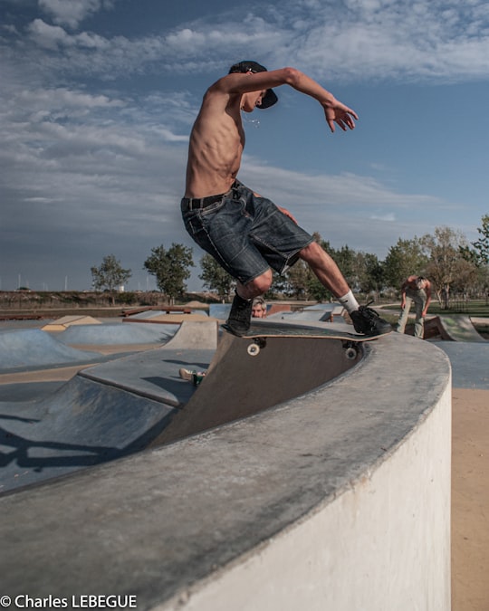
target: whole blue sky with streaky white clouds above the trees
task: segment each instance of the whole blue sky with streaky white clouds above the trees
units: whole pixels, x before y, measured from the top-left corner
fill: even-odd
[[[151,248],[184,243],[187,141],[237,61],[306,72],[360,116],[329,132],[286,86],[245,117],[239,177],[335,247],[383,259],[489,213],[483,0],[0,0],[0,289],[91,288],[114,254],[154,287]],[[198,270],[188,282],[198,290]]]

